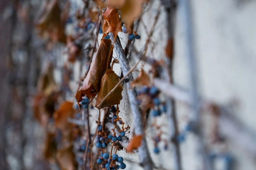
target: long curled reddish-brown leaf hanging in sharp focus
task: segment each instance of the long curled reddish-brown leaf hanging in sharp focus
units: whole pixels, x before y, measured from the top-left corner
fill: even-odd
[[[100,82],[107,68],[110,68],[110,64],[107,67],[108,56],[112,56],[111,40],[102,39],[99,48],[96,52],[94,60],[92,61],[88,75],[85,78],[83,86],[76,93],[77,102],[82,101],[83,96],[87,96],[91,101],[96,94],[100,91]]]

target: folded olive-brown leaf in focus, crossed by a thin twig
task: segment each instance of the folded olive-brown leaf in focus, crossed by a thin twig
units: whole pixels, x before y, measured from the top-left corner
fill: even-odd
[[[95,107],[98,107],[100,102],[104,99],[104,97],[115,87],[118,83],[119,78],[112,70],[107,70],[103,78],[101,79],[100,91],[97,97],[97,101]],[[108,107],[111,105],[120,104],[120,100],[122,99],[122,83],[118,85],[118,87],[107,97],[107,99],[102,103],[101,108]]]

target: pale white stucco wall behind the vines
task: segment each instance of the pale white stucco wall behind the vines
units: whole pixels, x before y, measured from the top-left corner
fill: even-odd
[[[244,1],[237,3],[235,0],[193,0],[193,23],[195,31],[195,47],[196,60],[198,66],[199,92],[204,98],[213,100],[220,104],[227,104],[233,99],[238,99],[240,104],[235,108],[233,113],[238,117],[248,128],[251,128],[256,133],[256,1]],[[153,2],[152,9],[148,10],[142,17],[142,20],[147,25],[149,32],[154,16],[160,5],[158,0]],[[160,60],[164,58],[164,49],[167,42],[166,35],[166,14],[164,8],[159,21],[156,24],[154,34],[151,41],[154,42],[149,46],[147,56]],[[177,85],[189,89],[188,63],[185,56],[184,48],[184,28],[181,19],[181,10],[178,6],[177,21],[175,28],[175,62],[174,62],[174,81]],[[135,40],[134,45],[138,50],[144,49],[147,35],[143,24],[138,26],[138,34],[141,35],[140,40]],[[124,33],[118,34],[123,48],[125,47],[128,35]],[[100,41],[101,35],[99,35]],[[153,48],[154,47],[154,48]],[[114,52],[113,57],[116,57]],[[128,57],[129,64],[132,67],[138,59],[133,54]],[[79,62],[74,64],[74,78],[79,81]],[[144,63],[139,64],[137,68],[141,68]],[[144,64],[146,72],[150,70],[147,64]],[[120,74],[120,65],[115,64],[113,69],[117,75]],[[138,72],[133,72],[136,77]],[[71,83],[74,95],[77,89],[75,82]],[[124,86],[123,99],[120,104],[120,117],[125,121],[126,125],[133,125],[132,114],[129,109],[128,96],[126,86]],[[164,96],[161,96],[164,99]],[[73,98],[74,100],[74,98]],[[95,102],[94,102],[95,103]],[[92,126],[98,116],[96,108],[90,111]],[[190,111],[184,105],[177,103],[177,114],[179,120],[179,129],[183,130],[188,120]],[[103,116],[103,114],[102,114]],[[103,118],[103,117],[102,117]],[[159,123],[166,123],[166,115],[157,118]],[[211,121],[211,119],[207,119]],[[150,118],[148,124],[152,123]],[[168,126],[163,130],[168,132]],[[92,134],[94,129],[92,128]],[[130,134],[129,134],[130,135]],[[128,137],[129,137],[128,135]],[[155,155],[153,151],[154,131],[152,127],[147,128],[147,142],[152,159],[157,167],[164,169],[174,169],[174,160],[171,145],[169,150],[164,151],[163,143],[160,143],[161,154]],[[164,137],[164,136],[163,136]],[[168,138],[168,136],[165,136]],[[215,148],[214,146],[213,148]],[[228,140],[228,151],[234,155],[236,159],[236,169],[252,170],[256,169],[256,163],[253,157],[247,154],[235,142]],[[124,162],[127,164],[127,170],[140,170],[138,165],[139,156],[134,153],[126,153],[126,151],[118,152],[119,156],[123,156]],[[188,134],[186,141],[181,144],[182,167],[184,170],[201,169],[202,163],[198,158],[196,150],[195,136]],[[217,163],[221,169],[222,161]]]

